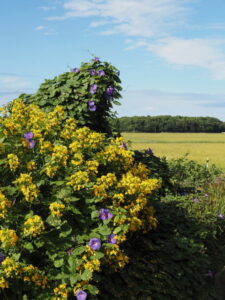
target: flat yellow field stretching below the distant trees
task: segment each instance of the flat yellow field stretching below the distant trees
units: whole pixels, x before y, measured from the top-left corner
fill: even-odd
[[[225,134],[223,133],[126,133],[131,149],[151,148],[156,156],[177,158],[189,153],[188,158],[200,163],[215,164],[225,169]]]

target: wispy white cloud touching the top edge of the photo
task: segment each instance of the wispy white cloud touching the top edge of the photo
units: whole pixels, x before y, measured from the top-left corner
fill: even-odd
[[[90,26],[110,25],[105,34],[128,36],[164,36],[185,22],[193,0],[69,0],[63,5],[65,13],[48,20],[73,17],[97,17]]]

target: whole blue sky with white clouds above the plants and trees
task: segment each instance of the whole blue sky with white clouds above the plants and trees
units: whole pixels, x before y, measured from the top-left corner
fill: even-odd
[[[225,121],[224,0],[2,0],[0,105],[94,56],[120,70],[118,116]]]

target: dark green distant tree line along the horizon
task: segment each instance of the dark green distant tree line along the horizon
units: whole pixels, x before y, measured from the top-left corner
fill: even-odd
[[[113,120],[120,132],[224,132],[225,122],[213,117],[134,116]]]

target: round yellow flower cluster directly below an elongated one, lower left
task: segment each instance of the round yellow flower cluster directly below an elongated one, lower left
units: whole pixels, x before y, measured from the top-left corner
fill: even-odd
[[[24,222],[23,232],[25,235],[36,237],[37,235],[41,234],[44,229],[45,226],[42,218],[38,215],[34,215]]]

